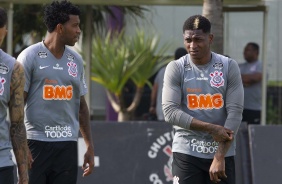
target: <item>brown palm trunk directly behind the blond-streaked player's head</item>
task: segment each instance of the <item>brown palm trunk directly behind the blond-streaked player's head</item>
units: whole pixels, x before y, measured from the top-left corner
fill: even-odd
[[[204,0],[203,16],[212,24],[212,33],[215,35],[212,50],[223,54],[223,0]]]

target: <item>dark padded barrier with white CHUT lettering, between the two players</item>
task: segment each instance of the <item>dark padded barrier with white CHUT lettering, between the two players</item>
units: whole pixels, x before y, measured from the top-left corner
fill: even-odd
[[[172,127],[165,122],[92,123],[99,166],[78,184],[172,183]]]

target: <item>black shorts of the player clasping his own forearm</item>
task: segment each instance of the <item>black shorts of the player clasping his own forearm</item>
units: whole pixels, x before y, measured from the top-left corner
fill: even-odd
[[[179,184],[212,184],[209,169],[212,159],[202,159],[182,153],[173,153],[172,174]],[[234,157],[225,158],[226,179],[221,179],[218,184],[235,184]],[[177,183],[177,184],[178,184]]]

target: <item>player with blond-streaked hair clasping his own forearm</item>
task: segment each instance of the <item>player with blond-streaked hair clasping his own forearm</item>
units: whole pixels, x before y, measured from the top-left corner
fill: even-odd
[[[210,21],[183,25],[187,55],[165,71],[162,108],[174,126],[174,184],[235,184],[236,133],[242,120],[243,84],[237,62],[211,51]]]

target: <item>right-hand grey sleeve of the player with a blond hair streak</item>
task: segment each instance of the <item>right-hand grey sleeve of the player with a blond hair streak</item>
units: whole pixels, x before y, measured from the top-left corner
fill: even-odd
[[[228,79],[226,91],[227,118],[225,127],[236,134],[242,121],[244,104],[244,89],[240,69],[236,61],[229,60]]]

